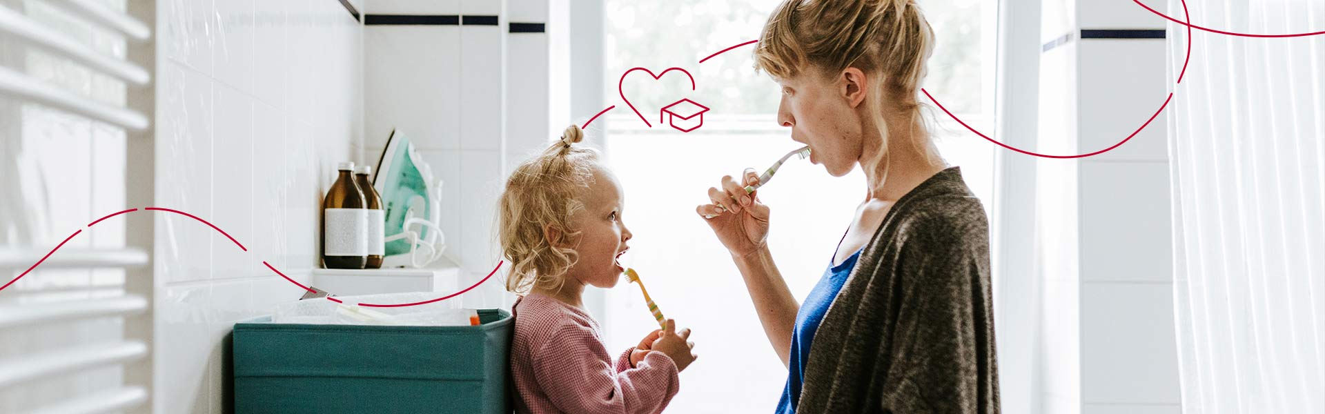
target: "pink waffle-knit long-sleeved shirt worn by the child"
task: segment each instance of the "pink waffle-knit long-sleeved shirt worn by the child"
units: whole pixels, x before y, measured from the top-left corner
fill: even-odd
[[[613,360],[588,313],[541,293],[515,301],[510,373],[515,413],[661,413],[680,389],[676,362],[649,352]]]

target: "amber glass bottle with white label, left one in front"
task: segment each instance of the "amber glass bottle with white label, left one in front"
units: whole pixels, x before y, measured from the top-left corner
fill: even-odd
[[[368,210],[354,180],[354,163],[337,165],[339,176],[322,199],[322,265],[362,269],[368,261]]]

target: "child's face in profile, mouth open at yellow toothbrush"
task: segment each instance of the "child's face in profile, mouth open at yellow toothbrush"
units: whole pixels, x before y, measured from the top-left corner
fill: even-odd
[[[631,231],[621,222],[625,206],[621,184],[612,172],[595,169],[594,182],[586,188],[582,202],[584,210],[571,218],[580,236],[574,245],[579,260],[568,276],[599,288],[615,287],[625,271],[616,259],[629,248],[625,242],[631,239]]]

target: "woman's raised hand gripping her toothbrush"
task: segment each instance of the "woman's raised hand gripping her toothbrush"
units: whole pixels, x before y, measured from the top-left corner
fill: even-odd
[[[759,202],[758,194],[746,192],[746,186],[759,183],[754,169],[746,169],[743,183],[737,183],[731,175],[722,178],[722,187],[709,188],[710,204],[696,207],[709,227],[731,252],[731,256],[745,257],[763,248],[768,236],[768,206]]]

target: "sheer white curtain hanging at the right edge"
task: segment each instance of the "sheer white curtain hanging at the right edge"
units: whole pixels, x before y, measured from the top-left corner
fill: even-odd
[[[1227,32],[1325,31],[1325,0],[1187,7]],[[1169,33],[1177,80],[1187,31]],[[1169,107],[1183,410],[1325,413],[1325,34],[1191,41]]]

